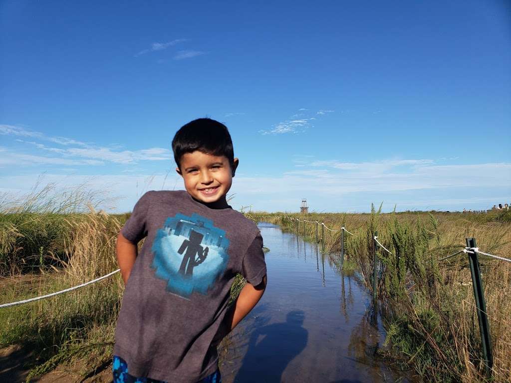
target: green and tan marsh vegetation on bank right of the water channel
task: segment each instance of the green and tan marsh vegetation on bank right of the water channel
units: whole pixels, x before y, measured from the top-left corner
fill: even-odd
[[[382,268],[378,298],[393,361],[411,368],[422,380],[485,382],[472,280],[466,254],[446,261],[439,258],[475,237],[481,251],[511,258],[511,211],[485,214],[448,212],[368,214],[252,213],[257,221],[276,223],[296,232],[296,222],[284,217],[344,226],[347,265],[357,271],[371,290],[373,234],[392,252],[378,251]],[[316,240],[315,224],[303,222],[298,233]],[[305,235],[304,235],[305,233]],[[321,241],[321,227],[318,229]],[[324,231],[325,251],[340,251],[340,233]],[[321,246],[321,244],[320,244]],[[345,261],[345,262],[346,262]],[[486,309],[493,342],[495,382],[511,382],[511,264],[479,257]],[[350,266],[352,267],[352,266]]]

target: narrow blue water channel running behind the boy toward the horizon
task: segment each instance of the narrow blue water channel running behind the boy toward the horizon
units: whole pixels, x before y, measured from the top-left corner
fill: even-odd
[[[260,223],[268,287],[229,335],[225,383],[406,382],[375,357],[385,339],[371,297],[320,245]]]

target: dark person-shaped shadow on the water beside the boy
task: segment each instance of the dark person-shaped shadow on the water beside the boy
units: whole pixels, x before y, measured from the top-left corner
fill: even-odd
[[[289,362],[307,346],[304,317],[303,311],[294,310],[287,314],[285,322],[256,327],[234,381],[280,382]]]

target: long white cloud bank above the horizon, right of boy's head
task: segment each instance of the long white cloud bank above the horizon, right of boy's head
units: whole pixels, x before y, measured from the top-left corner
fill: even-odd
[[[279,177],[241,177],[237,193],[265,193],[278,195],[315,195],[330,198],[346,193],[404,192],[418,189],[455,187],[511,187],[511,163],[482,163],[467,165],[435,165],[426,160],[422,165],[408,164],[399,172],[399,162],[386,172],[381,172],[375,161],[358,166],[363,172],[343,172],[338,169],[303,169],[289,171]],[[385,165],[385,166],[388,166]],[[354,166],[357,167],[357,166]],[[370,171],[368,171],[369,169]],[[470,177],[467,177],[470,174]]]

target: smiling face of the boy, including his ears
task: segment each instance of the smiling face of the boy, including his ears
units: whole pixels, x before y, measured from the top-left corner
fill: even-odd
[[[231,169],[227,157],[196,150],[183,154],[179,163],[176,172],[183,177],[184,187],[193,198],[218,207],[226,204],[225,196],[233,183],[238,158]]]

